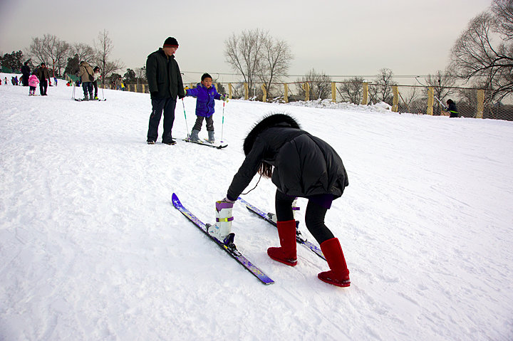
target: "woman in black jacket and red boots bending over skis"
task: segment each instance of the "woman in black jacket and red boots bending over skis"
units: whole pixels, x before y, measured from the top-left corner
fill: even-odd
[[[239,195],[257,172],[276,185],[276,218],[280,247],[268,248],[267,254],[288,266],[297,265],[296,221],[292,203],[296,196],[308,199],[306,228],[321,245],[329,271],[318,274],[323,282],[347,287],[351,284],[346,259],[338,238],[324,224],[326,211],[348,186],[346,169],[335,149],[323,140],[301,130],[294,118],[284,114],[264,117],[244,140],[242,162],[227,196],[216,202],[217,223],[209,234],[232,242],[232,208]]]

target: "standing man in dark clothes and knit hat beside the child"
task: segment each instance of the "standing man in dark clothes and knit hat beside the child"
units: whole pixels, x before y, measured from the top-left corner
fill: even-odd
[[[147,132],[148,145],[153,145],[157,141],[162,110],[164,111],[162,143],[166,145],[176,143],[171,135],[172,125],[175,122],[176,98],[185,97],[182,75],[174,56],[177,48],[177,40],[169,37],[162,48],[147,56],[146,76],[152,100],[152,113]]]

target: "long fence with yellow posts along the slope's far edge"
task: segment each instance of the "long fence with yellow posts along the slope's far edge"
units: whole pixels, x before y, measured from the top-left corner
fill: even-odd
[[[429,87],[423,85],[388,85],[363,82],[296,82],[273,83],[270,90],[264,84],[249,87],[248,83],[214,83],[219,93],[229,99],[289,103],[298,100],[331,100],[359,105],[385,102],[393,112],[420,115],[448,115],[444,106],[452,99],[462,117],[513,120],[513,95],[493,90],[458,87]],[[353,85],[348,88],[347,85]],[[195,83],[188,85],[195,88]],[[126,84],[126,90],[148,93],[147,84]],[[350,90],[348,90],[350,89]],[[506,103],[506,104],[504,104]]]

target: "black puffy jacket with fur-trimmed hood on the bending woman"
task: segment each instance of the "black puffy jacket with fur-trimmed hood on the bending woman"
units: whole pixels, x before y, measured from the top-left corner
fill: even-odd
[[[246,159],[227,192],[232,199],[249,185],[263,161],[274,166],[271,180],[289,196],[333,194],[336,199],[348,186],[346,169],[335,149],[301,130],[288,115],[261,120],[244,140],[244,153]]]

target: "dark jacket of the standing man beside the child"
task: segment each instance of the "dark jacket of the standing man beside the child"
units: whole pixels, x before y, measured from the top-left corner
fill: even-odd
[[[182,75],[175,56],[167,57],[162,48],[147,56],[146,76],[151,98],[185,97]]]

